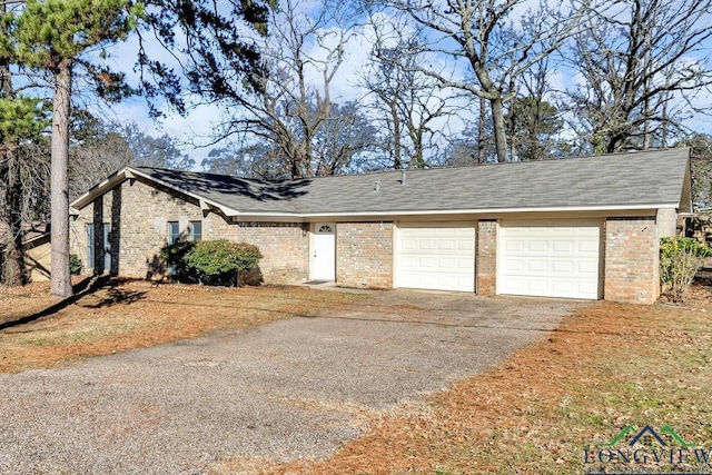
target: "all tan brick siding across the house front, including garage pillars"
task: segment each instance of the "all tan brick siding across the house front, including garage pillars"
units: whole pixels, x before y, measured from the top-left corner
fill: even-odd
[[[127,180],[80,210],[70,227],[71,251],[85,266],[111,274],[156,278],[166,274],[160,249],[168,241],[168,222],[178,221],[189,236],[190,222],[201,221],[202,239],[226,238],[259,247],[266,283],[295,283],[309,277],[309,228],[303,222],[231,222],[219,211],[206,212],[199,202],[141,179]],[[102,269],[102,253],[87,263],[86,225],[95,224],[95,249],[103,248],[100,224],[110,224],[111,268]],[[652,304],[660,294],[659,238],[674,229],[673,210],[656,217],[609,218],[604,235],[604,298]],[[496,293],[497,222],[479,220],[476,234],[477,293]],[[393,288],[394,224],[336,225],[336,280],[350,287]]]

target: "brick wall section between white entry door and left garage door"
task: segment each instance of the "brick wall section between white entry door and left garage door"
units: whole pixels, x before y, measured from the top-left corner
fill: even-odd
[[[393,222],[336,225],[336,281],[348,287],[393,288]]]

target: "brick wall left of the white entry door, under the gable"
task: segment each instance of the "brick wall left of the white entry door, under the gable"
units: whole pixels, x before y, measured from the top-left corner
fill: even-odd
[[[71,224],[71,251],[89,268],[101,270],[101,253],[87,263],[86,225],[95,222],[95,249],[103,246],[100,222],[111,224],[111,273],[125,277],[165,275],[160,249],[168,243],[168,222],[178,221],[184,237],[190,221],[202,222],[202,239],[226,238],[259,247],[260,269],[267,283],[287,283],[308,276],[308,234],[301,224],[231,224],[210,212],[204,217],[197,200],[156,189],[140,180],[125,181],[80,210]],[[108,270],[108,269],[107,269]]]

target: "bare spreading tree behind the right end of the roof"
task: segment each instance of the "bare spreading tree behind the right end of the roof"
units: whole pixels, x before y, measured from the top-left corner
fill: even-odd
[[[594,152],[669,145],[682,119],[704,111],[712,1],[607,0],[590,13],[571,55],[583,78],[570,91],[580,133]]]

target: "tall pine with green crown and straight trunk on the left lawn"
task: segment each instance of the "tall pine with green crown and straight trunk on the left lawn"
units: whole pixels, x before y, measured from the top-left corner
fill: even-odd
[[[122,76],[99,68],[82,55],[126,39],[142,16],[144,4],[130,0],[28,0],[4,18],[6,57],[26,68],[48,71],[53,79],[51,129],[51,281],[57,297],[72,294],[69,274],[69,119],[75,69],[86,68],[97,91],[107,98],[126,92]]]

